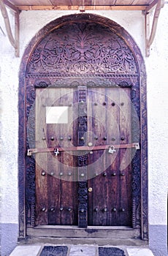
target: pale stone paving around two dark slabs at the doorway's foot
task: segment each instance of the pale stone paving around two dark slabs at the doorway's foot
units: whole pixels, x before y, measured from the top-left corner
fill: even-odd
[[[44,246],[67,246],[66,256],[99,256],[98,245],[67,245],[67,244],[39,244],[39,245],[18,245],[9,256],[40,256]],[[154,256],[148,247],[133,246],[101,246],[116,247],[122,249],[126,256]],[[104,255],[105,256],[105,255]]]

